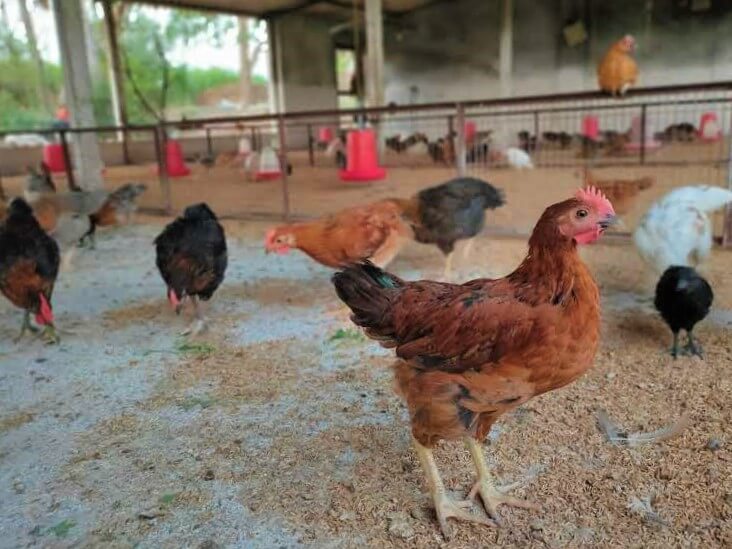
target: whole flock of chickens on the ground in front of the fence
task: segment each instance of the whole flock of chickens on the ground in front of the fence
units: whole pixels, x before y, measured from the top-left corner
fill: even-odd
[[[591,366],[600,339],[599,290],[578,248],[597,241],[625,211],[624,201],[653,183],[602,181],[591,173],[585,182],[574,196],[546,208],[524,260],[499,279],[410,282],[384,270],[414,240],[440,249],[446,256],[444,278],[453,276],[456,243],[469,245],[483,230],[486,211],[506,203],[503,191],[475,178],[265,234],[265,251],[297,249],[335,269],[332,283],[352,322],[394,349],[397,391],[409,410],[412,443],[445,537],[451,533],[449,518],[491,525],[498,523],[500,505],[537,508],[495,485],[482,442],[504,413],[571,383]],[[2,196],[0,291],[24,312],[19,338],[42,328],[47,343],[59,341],[52,300],[64,249],[74,238],[77,245],[93,243],[97,227],[129,221],[144,190],[128,184],[103,196],[64,194],[41,170],[29,174],[24,198],[8,203]],[[673,333],[674,357],[701,356],[692,331],[709,312],[713,292],[696,267],[712,245],[709,213],[728,203],[732,192],[723,189],[676,189],[650,208],[635,232],[638,251],[660,276],[655,305]],[[65,216],[76,221],[75,232],[61,238],[58,227]],[[154,245],[165,295],[176,313],[191,303],[194,318],[183,333],[196,335],[206,328],[200,302],[224,280],[224,228],[207,204],[193,204]],[[681,330],[687,342],[680,348]],[[453,500],[442,481],[432,449],[458,439],[476,471],[468,499],[480,498],[490,518]]]

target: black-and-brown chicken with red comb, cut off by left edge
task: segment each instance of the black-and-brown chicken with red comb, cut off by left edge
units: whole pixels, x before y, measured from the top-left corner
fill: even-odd
[[[33,313],[44,326],[45,340],[58,342],[51,296],[59,262],[58,244],[38,224],[31,207],[23,199],[13,200],[0,224],[0,291],[25,310],[18,340],[26,330],[36,331],[30,323]]]

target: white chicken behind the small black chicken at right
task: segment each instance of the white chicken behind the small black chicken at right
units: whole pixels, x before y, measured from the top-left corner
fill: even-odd
[[[700,185],[674,189],[641,219],[633,240],[659,274],[672,265],[696,267],[712,249],[709,213],[732,202],[732,191]]]

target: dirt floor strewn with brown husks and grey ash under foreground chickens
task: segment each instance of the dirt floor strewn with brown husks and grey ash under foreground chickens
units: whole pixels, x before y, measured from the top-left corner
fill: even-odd
[[[527,226],[538,201],[526,198]],[[542,510],[504,509],[500,529],[452,523],[445,543],[391,352],[346,330],[329,271],[298,253],[265,256],[265,223],[227,222],[211,330],[186,340],[188,318],[169,310],[154,267],[163,220],[139,221],[102,233],[61,275],[58,347],[12,343],[21,314],[0,301],[0,547],[732,545],[732,253],[715,251],[705,269],[716,293],[698,333],[705,360],[674,361],[634,250],[585,251],[603,295],[594,368],[504,417],[486,445],[498,479],[524,481],[518,495]],[[521,239],[480,238],[460,277],[506,274],[524,252]],[[391,270],[434,278],[442,266],[413,244]],[[616,446],[599,408],[629,432],[689,424]],[[462,445],[437,460],[465,494]]]

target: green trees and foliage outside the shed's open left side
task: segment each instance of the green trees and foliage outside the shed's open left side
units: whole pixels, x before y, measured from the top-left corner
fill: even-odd
[[[34,9],[40,9],[35,7]],[[166,17],[153,17],[150,7],[130,5],[120,21],[119,44],[123,59],[129,64],[138,88],[152,106],[159,110],[163,63],[156,50],[156,41],[164,51],[181,46],[194,48],[198,44],[221,44],[222,38],[237,26],[234,17],[211,15],[188,10],[169,10]],[[108,81],[108,59],[104,22],[100,13],[92,10],[90,28],[97,44],[100,70],[93,84],[93,107],[97,124],[114,123],[111,106],[111,89]],[[261,25],[254,27],[262,31]],[[47,63],[47,79],[53,97],[60,98],[63,88],[61,67]],[[29,49],[21,33],[12,31],[0,21],[0,129],[32,129],[48,127],[53,122],[44,112],[38,98],[37,74]],[[169,69],[167,107],[180,111],[181,107],[194,105],[204,91],[239,81],[239,74],[218,68],[199,69],[187,65]],[[262,77],[254,77],[255,83],[265,83]],[[125,99],[131,123],[154,121],[134,93],[130,82],[125,83]]]

